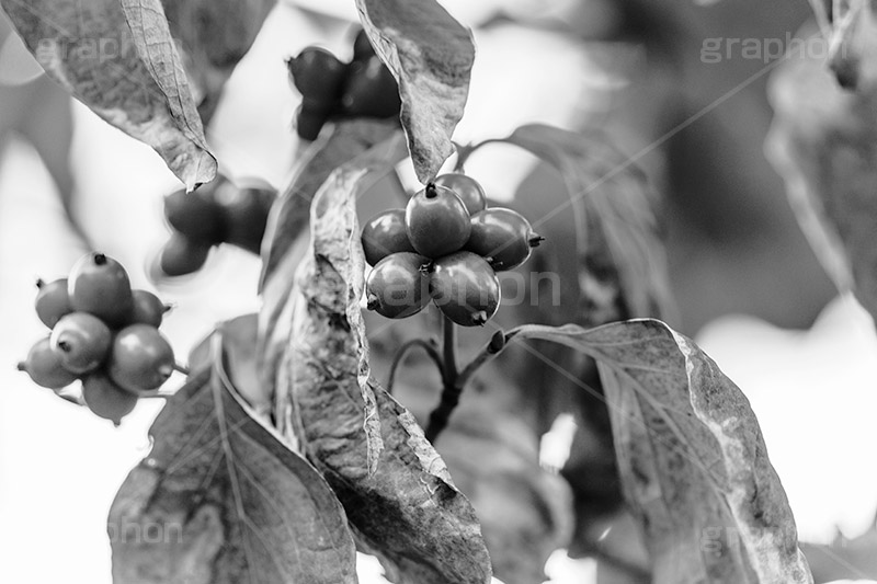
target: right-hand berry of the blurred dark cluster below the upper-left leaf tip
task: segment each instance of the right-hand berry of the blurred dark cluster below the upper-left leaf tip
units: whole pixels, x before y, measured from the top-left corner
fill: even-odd
[[[277,192],[270,186],[240,188],[228,183],[216,190],[215,198],[228,226],[225,241],[258,254]]]

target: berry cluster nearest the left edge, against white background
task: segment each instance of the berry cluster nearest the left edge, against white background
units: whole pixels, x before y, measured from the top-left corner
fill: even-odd
[[[19,364],[35,383],[59,390],[81,379],[89,409],[118,424],[171,376],[173,350],[158,331],[169,307],[133,290],[117,261],[89,253],[67,278],[37,287],[36,314],[52,333]]]

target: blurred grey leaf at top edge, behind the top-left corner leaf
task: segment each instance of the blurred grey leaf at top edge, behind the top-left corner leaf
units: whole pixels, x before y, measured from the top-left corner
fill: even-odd
[[[247,55],[276,0],[162,0],[171,34],[184,49],[189,78],[207,124],[223,88]]]

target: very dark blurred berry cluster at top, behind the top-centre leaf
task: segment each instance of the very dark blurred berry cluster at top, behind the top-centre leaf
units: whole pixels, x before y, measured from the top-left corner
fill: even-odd
[[[351,62],[311,46],[286,61],[286,66],[301,93],[296,130],[303,140],[316,140],[331,118],[399,115],[401,100],[396,79],[375,55],[364,31],[353,42]]]

